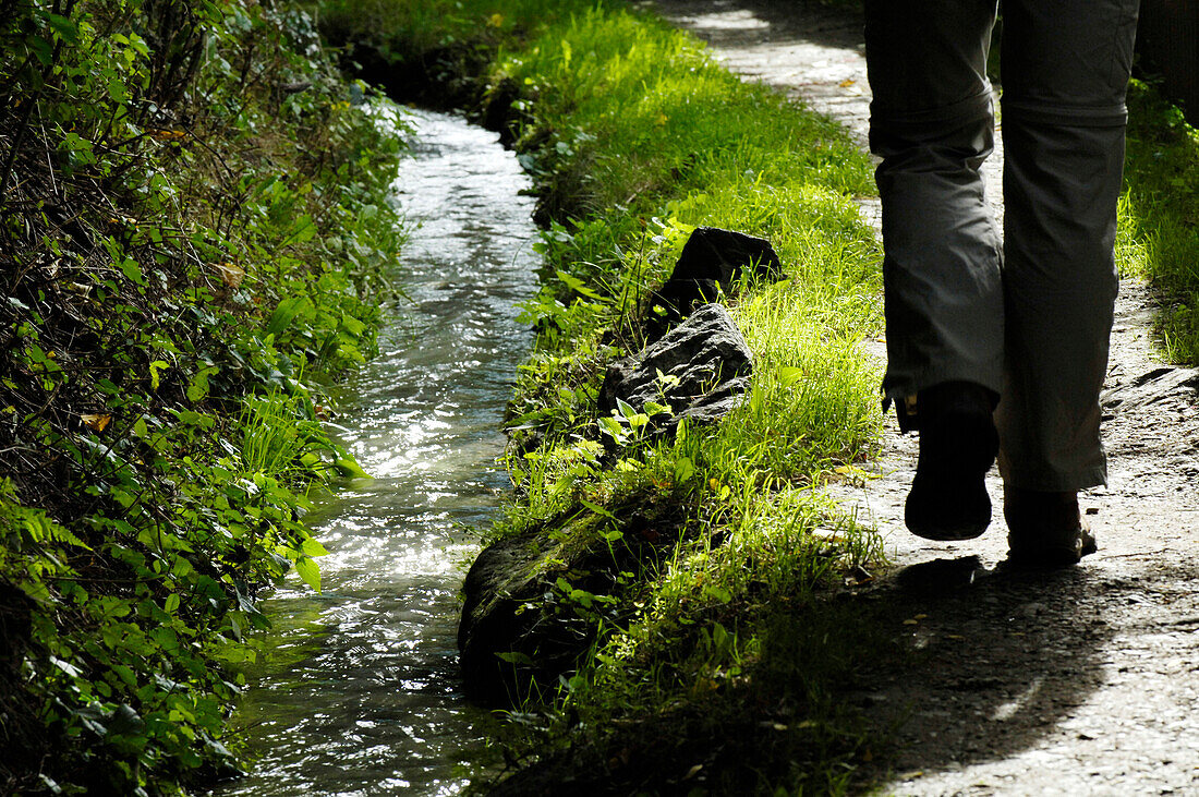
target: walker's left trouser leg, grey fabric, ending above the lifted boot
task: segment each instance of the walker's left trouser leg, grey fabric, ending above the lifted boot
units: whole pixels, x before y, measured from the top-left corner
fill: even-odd
[[[888,399],[950,381],[1001,387],[1000,243],[978,174],[994,141],[994,22],[995,0],[866,2]]]

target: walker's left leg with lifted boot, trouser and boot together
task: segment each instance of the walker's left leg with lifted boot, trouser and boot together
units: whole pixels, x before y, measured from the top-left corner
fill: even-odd
[[[933,539],[977,537],[990,521],[1004,296],[978,170],[994,144],[994,22],[995,0],[866,2],[870,150],[882,158],[882,388],[900,427],[920,429],[904,520]]]

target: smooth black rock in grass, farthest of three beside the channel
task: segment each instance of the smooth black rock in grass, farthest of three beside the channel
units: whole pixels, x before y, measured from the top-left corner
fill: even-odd
[[[775,280],[783,273],[783,264],[770,241],[716,227],[695,228],[670,279],[650,298],[649,338],[661,338],[699,304],[730,294],[747,268],[755,279]]]

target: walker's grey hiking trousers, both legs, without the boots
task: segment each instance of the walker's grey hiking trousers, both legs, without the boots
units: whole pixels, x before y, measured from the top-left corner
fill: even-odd
[[[998,393],[1010,485],[1107,481],[1098,397],[1137,7],[1004,0],[1001,240],[978,171],[994,146],[995,0],[866,0],[884,394],[903,403],[954,380]]]

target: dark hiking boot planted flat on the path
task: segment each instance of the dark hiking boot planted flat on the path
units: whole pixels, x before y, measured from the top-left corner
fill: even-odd
[[[1095,537],[1083,523],[1074,491],[1005,487],[1004,519],[1007,520],[1007,561],[1016,567],[1070,567],[1096,551]]]

